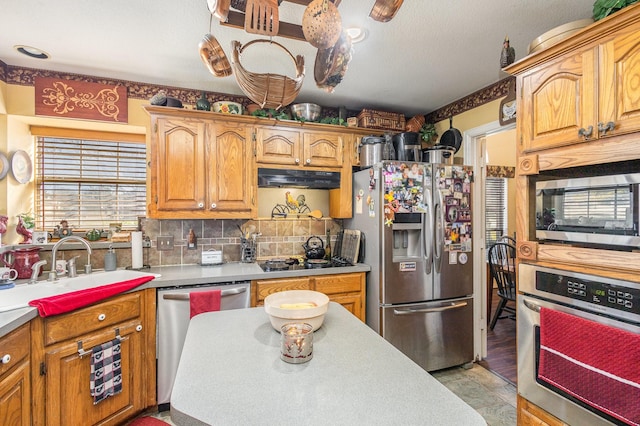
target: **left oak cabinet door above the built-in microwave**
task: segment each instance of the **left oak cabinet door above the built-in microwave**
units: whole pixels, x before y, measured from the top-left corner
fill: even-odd
[[[596,137],[595,67],[595,49],[587,49],[521,77],[518,122],[524,151]]]

